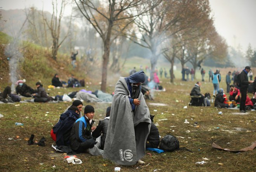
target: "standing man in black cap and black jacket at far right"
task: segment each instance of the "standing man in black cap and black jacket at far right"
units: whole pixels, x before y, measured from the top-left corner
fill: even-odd
[[[240,73],[240,92],[241,92],[241,100],[240,100],[240,112],[246,113],[246,94],[249,84],[253,83],[253,81],[248,81],[248,72],[251,71],[250,66],[246,66],[245,69]]]

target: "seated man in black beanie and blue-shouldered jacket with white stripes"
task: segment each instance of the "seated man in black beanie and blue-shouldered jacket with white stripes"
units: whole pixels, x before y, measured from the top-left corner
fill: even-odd
[[[88,148],[92,148],[96,142],[92,137],[92,130],[95,130],[95,126],[92,126],[94,121],[94,108],[91,105],[85,106],[84,116],[74,122],[70,133],[70,146],[77,152],[87,152]]]

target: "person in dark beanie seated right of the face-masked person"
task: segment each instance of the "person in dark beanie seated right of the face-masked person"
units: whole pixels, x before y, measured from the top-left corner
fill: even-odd
[[[47,102],[53,100],[53,98],[49,97],[43,88],[43,85],[40,82],[36,83],[37,93],[32,94],[34,102]]]

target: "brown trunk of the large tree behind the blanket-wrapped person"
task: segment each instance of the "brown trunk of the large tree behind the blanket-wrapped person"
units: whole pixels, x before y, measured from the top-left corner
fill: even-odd
[[[107,29],[107,37],[104,41],[104,54],[103,54],[103,64],[102,64],[102,76],[101,76],[101,86],[100,89],[106,92],[107,87],[107,64],[109,63],[109,53],[110,53],[110,37],[111,37],[112,25],[109,24]]]

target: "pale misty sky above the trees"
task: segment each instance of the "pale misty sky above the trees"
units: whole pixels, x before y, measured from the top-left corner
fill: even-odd
[[[39,10],[43,7],[44,10],[52,12],[51,2],[52,0],[0,0],[0,7],[9,10],[34,5]],[[209,0],[209,2],[216,30],[227,40],[228,45],[237,47],[240,44],[245,51],[251,43],[253,49],[256,49],[256,0]],[[70,12],[69,6],[65,14]]]

